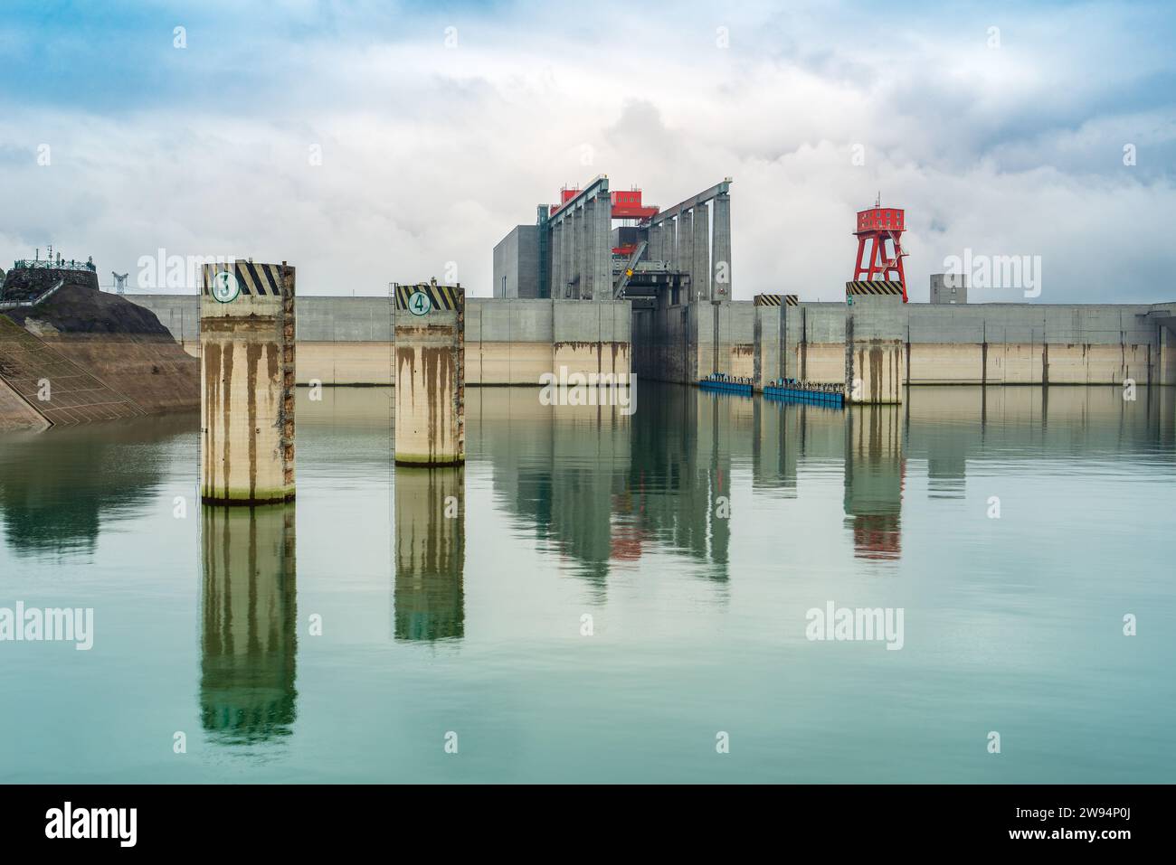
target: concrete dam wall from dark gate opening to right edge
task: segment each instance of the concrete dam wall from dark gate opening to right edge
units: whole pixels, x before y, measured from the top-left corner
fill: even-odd
[[[968,306],[909,303],[904,384],[1176,384],[1176,303]],[[846,304],[747,301],[634,313],[639,377],[696,382],[709,373],[837,384]]]

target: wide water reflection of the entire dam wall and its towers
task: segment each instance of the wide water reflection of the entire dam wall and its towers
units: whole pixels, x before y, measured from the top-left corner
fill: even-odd
[[[300,410],[313,423],[314,411],[325,415],[346,403],[348,417],[381,425],[386,407],[367,393],[328,391],[327,402],[305,402]],[[623,415],[608,405],[542,405],[533,388],[474,389],[466,403],[468,458],[490,471],[512,530],[546,544],[602,591],[612,569],[655,550],[684,556],[706,565],[706,576],[724,579],[741,512],[723,521],[715,504],[739,495],[748,475],[753,502],[773,497],[802,505],[814,484],[833,481],[841,487],[855,554],[895,558],[910,475],[916,487],[926,477],[928,496],[961,498],[969,467],[1030,454],[1064,456],[1076,429],[1100,450],[1131,452],[1158,442],[1171,452],[1171,390],[1142,389],[1138,398],[1124,403],[1117,388],[1054,388],[1047,400],[1034,387],[914,387],[894,414],[642,382],[636,414]],[[1034,442],[1040,447],[1027,449]],[[381,449],[372,456],[385,460]],[[803,539],[791,532],[780,527],[781,538]],[[397,584],[399,591],[407,588]]]

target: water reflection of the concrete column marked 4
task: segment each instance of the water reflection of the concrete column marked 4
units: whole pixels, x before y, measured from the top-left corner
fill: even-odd
[[[396,639],[466,633],[465,469],[397,468],[395,480]]]

